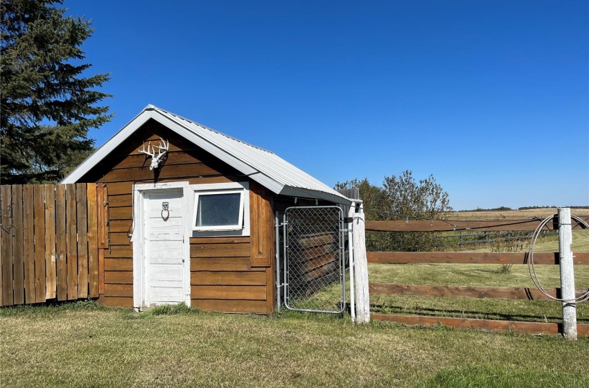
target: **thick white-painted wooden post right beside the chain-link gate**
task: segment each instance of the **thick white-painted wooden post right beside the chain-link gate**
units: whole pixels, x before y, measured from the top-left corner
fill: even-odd
[[[352,220],[356,323],[370,321],[370,298],[368,294],[368,261],[366,257],[366,233],[364,231],[364,207],[360,204]]]

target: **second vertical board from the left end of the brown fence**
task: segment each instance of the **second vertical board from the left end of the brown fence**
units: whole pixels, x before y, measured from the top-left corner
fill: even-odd
[[[12,186],[12,284],[15,304],[24,303],[24,224],[22,216],[22,185]],[[18,281],[16,279],[19,279]]]

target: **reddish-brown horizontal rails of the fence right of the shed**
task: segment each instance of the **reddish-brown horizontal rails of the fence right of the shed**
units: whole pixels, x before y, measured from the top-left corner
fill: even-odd
[[[589,216],[582,216],[587,222]],[[523,231],[534,230],[541,220],[486,220],[486,221],[440,221],[415,220],[401,221],[369,221],[366,222],[367,231]],[[558,229],[558,223],[550,223],[548,229]],[[581,225],[573,221],[573,229],[580,229]],[[536,265],[559,265],[559,253],[535,253]],[[445,264],[525,264],[528,260],[526,252],[367,252],[369,263],[417,264],[417,263],[445,263]],[[588,252],[576,252],[574,264],[589,265]],[[549,294],[559,297],[558,288],[545,289]],[[577,294],[585,292],[577,290]],[[426,297],[466,297],[466,298],[494,298],[494,299],[550,299],[536,288],[520,287],[476,287],[455,285],[407,285],[391,283],[369,283],[371,294],[381,295],[411,295]],[[561,324],[531,321],[502,321],[497,319],[464,319],[454,317],[427,317],[423,315],[393,315],[373,314],[373,319],[394,321],[408,325],[437,325],[454,326],[458,328],[482,328],[488,330],[513,330],[517,333],[557,334],[561,331]],[[589,324],[578,324],[579,335],[589,335]]]

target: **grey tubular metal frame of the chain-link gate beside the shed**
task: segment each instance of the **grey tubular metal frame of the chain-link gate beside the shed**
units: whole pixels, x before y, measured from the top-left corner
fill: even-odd
[[[339,256],[340,256],[340,283],[342,284],[342,292],[340,293],[340,310],[314,310],[314,309],[306,309],[306,308],[292,308],[288,306],[288,282],[287,282],[287,274],[288,274],[288,211],[291,209],[337,209],[339,214],[339,222],[338,222],[338,232],[340,235],[340,244],[339,244]],[[276,220],[278,220],[278,214],[276,214]],[[283,222],[280,225],[282,226],[283,230],[283,276],[282,276],[282,283],[280,284],[279,281],[276,281],[276,285],[278,286],[278,290],[276,292],[277,298],[279,299],[280,295],[280,287],[284,286],[284,295],[283,300],[279,301],[279,309],[280,305],[284,304],[287,310],[291,311],[301,311],[301,312],[324,312],[326,314],[341,314],[346,310],[346,250],[345,250],[345,236],[348,232],[348,229],[345,227],[345,219],[344,219],[344,211],[340,206],[330,205],[330,206],[290,206],[285,209],[283,214]],[[276,225],[276,247],[279,246],[278,243],[278,233],[279,233],[279,225]],[[276,264],[279,263],[279,252],[276,251]],[[279,272],[279,268],[276,267],[276,273]],[[353,292],[353,291],[351,291]]]

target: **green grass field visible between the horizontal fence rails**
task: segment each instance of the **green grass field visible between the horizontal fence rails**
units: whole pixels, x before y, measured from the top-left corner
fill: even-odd
[[[558,252],[558,236],[538,240],[534,252]],[[479,252],[489,252],[482,248]],[[589,230],[573,231],[573,252],[589,252]],[[560,287],[558,265],[536,265],[545,288]],[[575,286],[589,288],[589,265],[574,267]],[[489,264],[378,264],[369,263],[371,283],[416,285],[477,285],[536,288],[527,265]],[[412,297],[371,294],[371,310],[389,314],[429,315],[475,319],[561,322],[561,303],[509,299]],[[589,302],[577,303],[577,321],[589,324]]]

